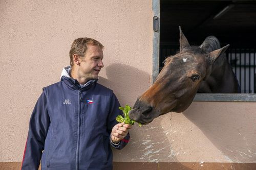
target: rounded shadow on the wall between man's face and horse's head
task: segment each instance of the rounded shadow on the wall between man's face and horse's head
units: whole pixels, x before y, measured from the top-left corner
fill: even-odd
[[[105,68],[107,79],[99,77],[99,83],[114,90],[121,105],[133,106],[138,95],[150,85],[150,74],[125,64],[111,64]]]

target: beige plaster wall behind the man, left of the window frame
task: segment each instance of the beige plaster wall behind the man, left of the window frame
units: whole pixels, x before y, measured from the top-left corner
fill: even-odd
[[[99,82],[132,105],[151,81],[152,18],[151,1],[1,0],[0,162],[22,161],[36,100],[59,81],[75,38],[105,46]]]

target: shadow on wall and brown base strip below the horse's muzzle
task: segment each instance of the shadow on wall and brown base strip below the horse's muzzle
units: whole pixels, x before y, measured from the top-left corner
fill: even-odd
[[[116,162],[114,169],[191,170],[192,168],[179,162],[177,159],[179,153],[173,149],[175,139],[172,134],[175,132],[169,128],[172,124],[169,121],[170,116],[170,114],[160,116],[142,127],[134,125],[130,131],[131,138],[128,145],[120,151],[113,150],[113,158]]]

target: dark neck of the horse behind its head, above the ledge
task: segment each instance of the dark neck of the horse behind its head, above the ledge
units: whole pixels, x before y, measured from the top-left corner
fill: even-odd
[[[237,90],[237,79],[226,57],[222,55],[212,65],[212,72],[200,85],[199,92],[234,93]]]

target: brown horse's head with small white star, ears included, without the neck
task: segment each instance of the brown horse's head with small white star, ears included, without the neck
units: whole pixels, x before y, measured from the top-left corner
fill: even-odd
[[[180,52],[165,59],[155,83],[137,99],[129,116],[147,124],[159,115],[186,110],[200,83],[211,74],[212,64],[228,46],[206,53],[202,45],[190,46],[180,28]]]

